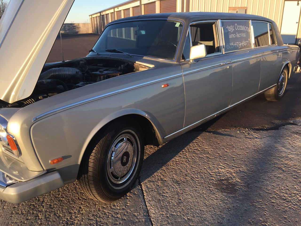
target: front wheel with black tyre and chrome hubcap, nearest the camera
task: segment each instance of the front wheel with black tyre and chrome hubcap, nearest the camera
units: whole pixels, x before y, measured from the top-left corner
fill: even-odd
[[[89,144],[79,169],[79,184],[90,198],[113,202],[134,185],[144,158],[141,128],[134,120],[117,120]]]

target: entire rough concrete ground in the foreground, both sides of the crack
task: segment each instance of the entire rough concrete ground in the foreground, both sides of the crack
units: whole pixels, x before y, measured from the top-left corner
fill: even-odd
[[[21,204],[0,225],[300,225],[301,119],[268,131],[191,131],[147,146],[134,189],[87,199],[77,182]]]

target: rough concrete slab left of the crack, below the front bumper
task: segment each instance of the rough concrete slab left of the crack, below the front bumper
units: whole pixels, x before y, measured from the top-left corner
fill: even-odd
[[[0,200],[0,225],[151,225],[141,187],[114,203],[88,199],[76,183],[21,204]]]

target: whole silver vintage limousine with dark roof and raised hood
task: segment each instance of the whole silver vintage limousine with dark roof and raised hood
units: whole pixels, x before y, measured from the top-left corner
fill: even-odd
[[[119,199],[138,177],[145,145],[260,93],[277,101],[300,71],[299,47],[284,45],[274,21],[204,12],[115,20],[86,57],[45,64],[72,3],[11,1],[0,20],[0,199],[7,202],[76,179],[92,199]]]

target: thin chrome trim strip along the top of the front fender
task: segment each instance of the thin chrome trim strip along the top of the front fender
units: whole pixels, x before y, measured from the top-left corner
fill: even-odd
[[[148,85],[148,84],[151,84],[151,83],[157,83],[157,82],[160,82],[162,80],[167,80],[167,79],[171,79],[171,78],[182,76],[182,75],[183,75],[182,73],[181,74],[170,75],[170,76],[167,76],[167,77],[164,77],[164,78],[152,80],[152,81],[149,81],[149,82],[140,83],[140,84],[137,84],[137,85],[134,85],[134,86],[129,86],[129,87],[126,87],[126,88],[123,88],[123,89],[118,89],[118,90],[115,90],[115,91],[111,91],[109,93],[104,93],[104,94],[101,94],[101,95],[98,95],[98,96],[94,96],[94,97],[90,97],[90,98],[87,98],[87,99],[84,99],[84,100],[81,100],[81,101],[77,101],[77,102],[74,102],[72,104],[68,104],[68,105],[65,105],[65,106],[62,106],[62,107],[59,107],[59,108],[55,108],[55,109],[53,109],[51,111],[47,111],[47,112],[45,112],[45,113],[43,113],[41,115],[38,115],[38,116],[36,116],[36,117],[33,118],[32,122],[35,122],[38,119],[40,119],[40,118],[42,118],[42,117],[44,117],[46,115],[50,115],[52,113],[55,113],[56,111],[65,110],[67,108],[72,108],[72,107],[75,107],[77,105],[82,105],[85,102],[95,101],[97,99],[101,99],[103,97],[106,97],[106,96],[109,96],[109,95],[113,95],[113,94],[116,94],[116,93],[121,93],[121,92],[127,91],[129,89],[135,89],[135,88],[142,87],[142,86],[145,86],[145,85]]]

